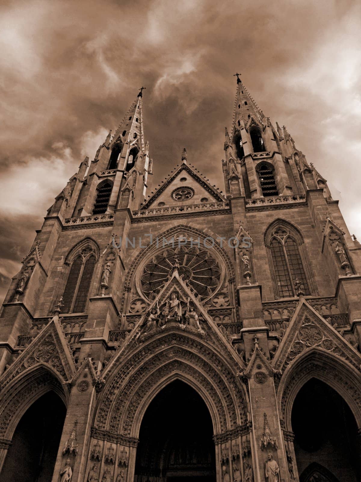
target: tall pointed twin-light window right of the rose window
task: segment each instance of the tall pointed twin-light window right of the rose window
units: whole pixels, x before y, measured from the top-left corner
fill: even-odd
[[[304,295],[310,295],[300,246],[296,232],[291,232],[286,226],[272,229],[268,247],[276,292],[281,298],[296,296],[299,290]]]

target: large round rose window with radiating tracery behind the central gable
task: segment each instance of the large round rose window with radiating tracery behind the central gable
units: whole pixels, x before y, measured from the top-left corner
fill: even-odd
[[[175,266],[183,281],[187,281],[202,300],[211,296],[219,286],[217,260],[202,248],[181,246],[156,254],[145,266],[141,277],[144,295],[154,299],[167,283]]]

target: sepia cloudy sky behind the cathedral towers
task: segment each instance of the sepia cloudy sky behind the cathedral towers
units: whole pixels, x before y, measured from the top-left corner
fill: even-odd
[[[138,89],[158,184],[181,160],[223,189],[242,80],[329,181],[361,239],[355,0],[5,1],[0,7],[2,299],[46,209]]]

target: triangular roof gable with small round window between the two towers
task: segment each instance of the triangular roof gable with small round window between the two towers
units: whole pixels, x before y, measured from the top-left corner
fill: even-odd
[[[185,181],[183,181],[185,178]],[[181,180],[182,179],[182,180]],[[192,197],[189,200],[177,201],[173,198],[173,191],[178,188],[189,187]],[[167,180],[156,189],[153,196],[144,203],[142,209],[148,209],[151,206],[157,207],[159,202],[164,202],[164,206],[180,206],[182,204],[200,204],[202,199],[207,198],[209,202],[226,201],[219,191],[211,186],[209,182],[196,172],[195,169],[183,162],[174,173],[168,176]]]

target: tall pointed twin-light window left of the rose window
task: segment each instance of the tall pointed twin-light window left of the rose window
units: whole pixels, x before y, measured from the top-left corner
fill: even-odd
[[[85,311],[95,265],[96,254],[91,246],[83,248],[75,257],[64,289],[63,313]]]

